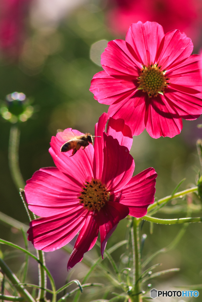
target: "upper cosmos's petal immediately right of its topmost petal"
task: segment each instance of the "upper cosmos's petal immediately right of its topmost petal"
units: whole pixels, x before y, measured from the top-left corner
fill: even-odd
[[[178,63],[187,59],[193,51],[193,43],[186,34],[179,30],[173,30],[165,34],[164,40],[159,47],[156,61],[162,69],[171,69]]]

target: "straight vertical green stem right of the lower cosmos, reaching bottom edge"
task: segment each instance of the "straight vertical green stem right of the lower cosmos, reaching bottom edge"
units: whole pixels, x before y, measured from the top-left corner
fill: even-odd
[[[133,234],[134,234],[134,248],[135,248],[135,284],[131,301],[140,301],[140,273],[141,273],[141,259],[140,259],[140,238],[139,238],[139,219],[133,218]]]

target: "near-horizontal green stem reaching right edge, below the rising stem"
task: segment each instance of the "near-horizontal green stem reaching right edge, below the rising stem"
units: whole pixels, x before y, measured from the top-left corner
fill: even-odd
[[[151,221],[154,223],[161,223],[161,224],[177,224],[177,223],[185,223],[185,222],[201,222],[202,217],[189,217],[189,218],[176,218],[176,219],[161,219],[151,216],[143,216],[141,219]]]

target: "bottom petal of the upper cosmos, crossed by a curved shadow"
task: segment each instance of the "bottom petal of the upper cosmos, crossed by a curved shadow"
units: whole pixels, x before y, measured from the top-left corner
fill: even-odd
[[[163,95],[151,98],[146,125],[146,130],[151,137],[174,137],[180,133],[182,126],[182,119]]]

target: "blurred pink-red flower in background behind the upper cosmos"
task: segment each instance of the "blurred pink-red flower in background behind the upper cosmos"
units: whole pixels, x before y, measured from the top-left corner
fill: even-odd
[[[201,34],[202,1],[200,0],[114,0],[109,1],[107,22],[117,34],[126,34],[131,23],[155,21],[164,32],[179,29],[194,44]],[[114,4],[114,5],[113,5]]]

